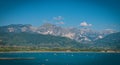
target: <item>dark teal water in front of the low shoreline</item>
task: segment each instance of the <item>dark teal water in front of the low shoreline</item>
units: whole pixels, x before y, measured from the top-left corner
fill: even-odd
[[[120,65],[120,53],[0,53],[0,65]]]

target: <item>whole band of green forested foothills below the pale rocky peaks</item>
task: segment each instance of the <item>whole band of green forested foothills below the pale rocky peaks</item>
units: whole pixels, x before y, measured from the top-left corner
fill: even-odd
[[[0,47],[5,47],[3,48],[3,50],[6,49],[6,47],[16,47],[18,48],[18,50],[20,48],[22,48],[22,50],[25,50],[23,47],[32,47],[32,48],[34,47],[34,48],[48,48],[48,51],[49,49],[54,49],[54,48],[59,48],[62,50],[77,49],[80,51],[81,50],[85,50],[85,51],[86,50],[90,50],[90,51],[118,50],[119,51],[120,50],[119,37],[120,37],[120,32],[110,34],[92,43],[81,43],[70,38],[53,36],[49,34],[43,35],[43,34],[27,33],[27,32],[21,32],[21,33],[0,32]],[[10,49],[14,50],[12,48]]]

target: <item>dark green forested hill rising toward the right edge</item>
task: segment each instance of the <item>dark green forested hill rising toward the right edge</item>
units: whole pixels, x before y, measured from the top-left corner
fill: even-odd
[[[94,46],[105,49],[120,50],[120,32],[107,35],[102,39],[98,39],[94,42]]]

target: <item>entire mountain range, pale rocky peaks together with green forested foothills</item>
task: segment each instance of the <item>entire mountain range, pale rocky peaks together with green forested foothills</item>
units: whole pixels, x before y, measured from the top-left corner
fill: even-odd
[[[120,32],[95,31],[90,28],[61,27],[45,23],[39,27],[30,24],[0,26],[0,45],[120,49]]]

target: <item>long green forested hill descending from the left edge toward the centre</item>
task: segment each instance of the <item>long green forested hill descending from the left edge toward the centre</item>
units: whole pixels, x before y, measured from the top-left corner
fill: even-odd
[[[0,33],[1,46],[79,47],[78,42],[66,37],[34,33]]]

